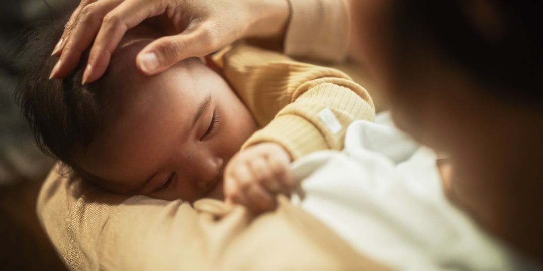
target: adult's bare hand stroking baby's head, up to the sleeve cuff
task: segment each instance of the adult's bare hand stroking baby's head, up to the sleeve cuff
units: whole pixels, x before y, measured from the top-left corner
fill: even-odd
[[[73,72],[89,48],[83,83],[97,80],[126,31],[147,18],[167,16],[173,34],[151,42],[136,57],[144,74],[156,74],[191,56],[204,56],[244,37],[280,38],[288,22],[287,0],[82,0],[53,54],[52,78]]]

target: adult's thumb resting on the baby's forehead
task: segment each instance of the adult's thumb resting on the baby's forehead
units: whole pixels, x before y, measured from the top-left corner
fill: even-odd
[[[136,57],[136,66],[147,75],[163,72],[173,64],[192,56],[213,51],[211,43],[196,32],[161,37],[143,48]],[[209,39],[208,39],[209,40]]]

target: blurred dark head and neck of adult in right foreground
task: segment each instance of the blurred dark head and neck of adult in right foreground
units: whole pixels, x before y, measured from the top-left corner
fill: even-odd
[[[388,94],[396,124],[451,158],[447,195],[541,259],[541,4],[351,2],[357,57]]]

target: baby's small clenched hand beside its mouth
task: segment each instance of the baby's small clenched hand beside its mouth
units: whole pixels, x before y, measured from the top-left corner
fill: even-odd
[[[224,171],[226,202],[256,212],[275,209],[275,195],[288,195],[295,187],[290,163],[289,153],[277,143],[260,143],[236,153]]]

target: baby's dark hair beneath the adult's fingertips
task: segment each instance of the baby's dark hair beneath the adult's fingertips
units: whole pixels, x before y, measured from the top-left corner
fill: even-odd
[[[85,150],[102,126],[109,96],[107,72],[98,81],[81,85],[86,51],[71,75],[49,80],[59,59],[50,54],[63,30],[63,21],[57,21],[39,25],[28,35],[21,56],[29,63],[15,98],[40,149],[77,168],[74,151]]]

